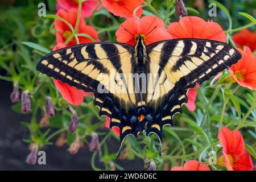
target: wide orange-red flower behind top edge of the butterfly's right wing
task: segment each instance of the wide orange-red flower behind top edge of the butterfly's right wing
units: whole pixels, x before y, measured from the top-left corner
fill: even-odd
[[[218,23],[197,16],[185,16],[179,22],[169,24],[167,31],[172,38],[197,38],[226,42],[226,34]]]

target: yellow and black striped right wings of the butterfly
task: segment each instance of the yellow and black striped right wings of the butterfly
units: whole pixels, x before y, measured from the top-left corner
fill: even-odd
[[[148,94],[147,134],[162,138],[164,125],[172,125],[172,118],[181,113],[187,102],[187,91],[196,83],[203,83],[225,68],[237,63],[241,54],[228,44],[204,39],[174,39],[147,46],[151,73],[159,80],[151,96]],[[162,77],[162,78],[161,78]]]

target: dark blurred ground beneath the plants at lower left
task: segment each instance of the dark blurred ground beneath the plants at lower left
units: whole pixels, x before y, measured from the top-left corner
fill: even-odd
[[[76,155],[67,151],[68,147],[58,148],[46,146],[46,165],[30,166],[25,163],[28,155],[28,144],[22,139],[28,137],[28,129],[21,121],[30,121],[30,115],[17,114],[11,109],[10,93],[13,89],[11,82],[0,80],[0,170],[92,170],[90,159],[92,152],[88,147],[80,148]],[[113,151],[118,151],[119,143],[108,143]],[[126,170],[143,170],[143,161],[117,160]],[[102,163],[96,163],[101,167]]]

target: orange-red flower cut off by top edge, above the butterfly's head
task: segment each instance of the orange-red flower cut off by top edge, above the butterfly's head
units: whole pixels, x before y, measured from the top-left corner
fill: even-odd
[[[102,4],[115,16],[125,18],[133,17],[133,11],[143,5],[144,0],[101,0]],[[136,16],[141,17],[142,8],[138,9]]]

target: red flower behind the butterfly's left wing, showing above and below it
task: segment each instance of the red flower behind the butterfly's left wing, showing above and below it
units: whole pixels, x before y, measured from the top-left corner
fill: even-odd
[[[59,43],[53,48],[53,51],[64,47],[65,45],[63,43]],[[79,90],[73,86],[69,86],[68,84],[64,84],[59,80],[54,79],[53,81],[61,96],[64,98],[64,100],[69,102],[69,104],[80,105],[84,101],[84,97],[88,96],[88,94],[91,94],[89,92]]]

